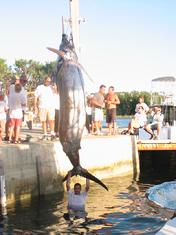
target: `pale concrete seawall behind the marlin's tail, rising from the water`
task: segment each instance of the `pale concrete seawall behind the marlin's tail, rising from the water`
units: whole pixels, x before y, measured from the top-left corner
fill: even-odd
[[[131,136],[83,138],[81,166],[98,178],[133,174],[138,151]],[[72,165],[59,141],[0,146],[0,174],[5,176],[7,203],[64,190],[63,176]]]

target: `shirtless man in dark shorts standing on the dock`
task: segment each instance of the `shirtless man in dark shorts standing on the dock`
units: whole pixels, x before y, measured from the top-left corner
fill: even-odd
[[[116,112],[117,105],[120,104],[118,95],[114,92],[114,87],[110,86],[105,97],[106,104],[106,123],[108,125],[108,135],[116,134]]]

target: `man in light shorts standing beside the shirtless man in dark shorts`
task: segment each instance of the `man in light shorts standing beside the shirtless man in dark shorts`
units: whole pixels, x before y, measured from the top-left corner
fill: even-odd
[[[92,98],[93,107],[93,125],[95,128],[95,134],[101,135],[102,121],[103,121],[103,108],[105,107],[104,95],[105,85],[99,87],[99,91],[94,94]]]

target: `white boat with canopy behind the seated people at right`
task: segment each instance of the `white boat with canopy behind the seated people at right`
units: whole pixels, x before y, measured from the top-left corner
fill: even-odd
[[[176,140],[176,78],[159,77],[151,80],[150,108],[160,107],[164,114],[160,140]],[[140,131],[139,139],[149,139],[150,135]]]

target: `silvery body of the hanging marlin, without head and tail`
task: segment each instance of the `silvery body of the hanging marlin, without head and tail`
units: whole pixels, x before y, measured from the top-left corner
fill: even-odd
[[[64,152],[74,167],[79,165],[80,141],[86,121],[85,95],[79,68],[64,62],[59,77],[59,136]]]

